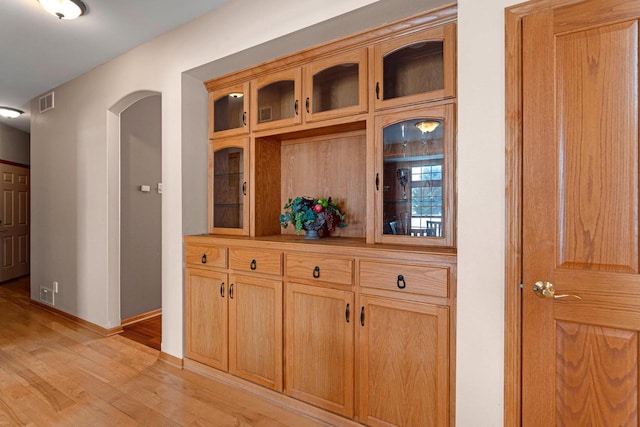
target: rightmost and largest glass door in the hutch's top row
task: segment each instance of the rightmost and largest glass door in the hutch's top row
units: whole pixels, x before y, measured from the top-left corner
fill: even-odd
[[[455,96],[455,24],[375,47],[376,109]]]

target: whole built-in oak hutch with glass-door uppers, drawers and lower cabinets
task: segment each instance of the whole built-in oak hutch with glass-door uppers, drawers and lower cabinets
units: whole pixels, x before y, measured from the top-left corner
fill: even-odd
[[[455,6],[205,85],[185,366],[365,425],[453,425]],[[337,199],[347,227],[283,229],[296,196]]]

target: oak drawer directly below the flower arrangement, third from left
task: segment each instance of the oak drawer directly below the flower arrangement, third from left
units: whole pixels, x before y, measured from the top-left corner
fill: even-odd
[[[338,285],[351,285],[353,283],[353,259],[287,255],[287,276]]]

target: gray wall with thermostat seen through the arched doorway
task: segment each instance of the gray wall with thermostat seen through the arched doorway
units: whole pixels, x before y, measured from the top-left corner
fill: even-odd
[[[162,305],[161,101],[143,98],[120,115],[121,319]],[[141,185],[151,191],[140,191]]]

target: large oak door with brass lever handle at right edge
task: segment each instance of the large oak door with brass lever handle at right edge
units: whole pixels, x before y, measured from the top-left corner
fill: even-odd
[[[638,425],[640,2],[547,3],[522,27],[523,425]]]

